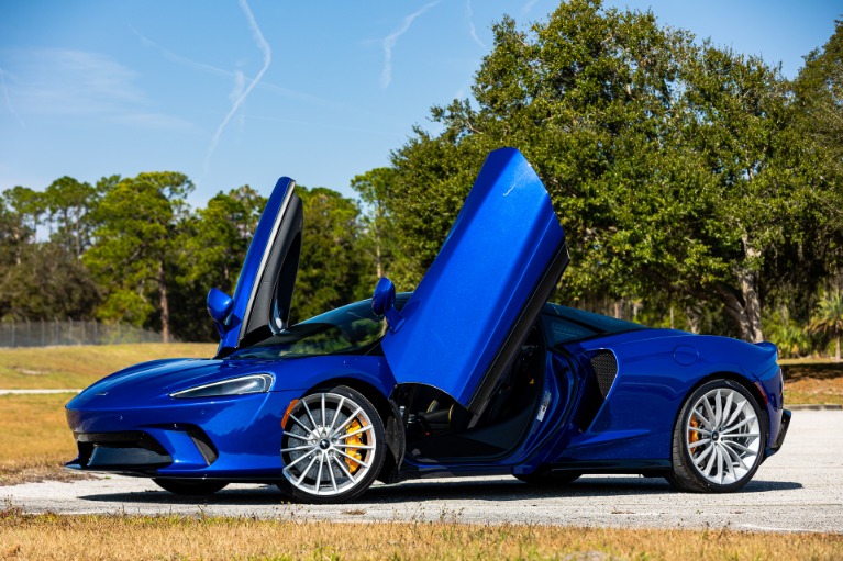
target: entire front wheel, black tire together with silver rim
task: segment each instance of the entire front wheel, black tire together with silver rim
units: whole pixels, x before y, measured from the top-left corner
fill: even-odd
[[[313,390],[284,426],[278,489],[299,503],[353,501],[380,473],[386,448],[384,422],[362,393],[345,385]]]

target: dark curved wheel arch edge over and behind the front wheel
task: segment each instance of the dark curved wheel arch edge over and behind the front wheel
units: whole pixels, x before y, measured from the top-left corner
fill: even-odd
[[[376,385],[365,380],[348,375],[322,380],[309,390],[306,390],[302,394],[308,394],[334,385],[345,385],[359,392],[375,406],[381,423],[384,423],[384,433],[386,435],[387,449],[389,450],[389,453],[385,457],[384,467],[380,469],[377,479],[384,483],[398,482],[399,468],[401,467],[404,457],[404,430],[398,409]]]

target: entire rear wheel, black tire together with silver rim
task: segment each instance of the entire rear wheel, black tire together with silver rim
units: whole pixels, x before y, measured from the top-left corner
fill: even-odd
[[[700,385],[676,418],[667,481],[692,493],[743,487],[764,460],[765,418],[755,397],[740,383],[720,379]]]

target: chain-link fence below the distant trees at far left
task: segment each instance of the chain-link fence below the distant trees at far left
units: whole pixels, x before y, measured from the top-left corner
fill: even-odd
[[[0,347],[46,347],[47,345],[115,345],[160,343],[159,333],[125,324],[100,322],[37,321],[0,322]]]

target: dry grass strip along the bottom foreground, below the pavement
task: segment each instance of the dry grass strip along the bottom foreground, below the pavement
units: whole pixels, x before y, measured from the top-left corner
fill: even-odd
[[[5,559],[832,560],[843,536],[565,528],[456,521],[354,524],[0,510]]]

